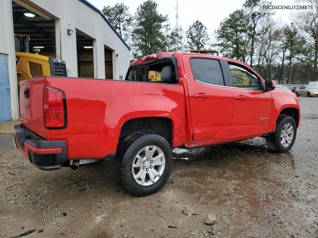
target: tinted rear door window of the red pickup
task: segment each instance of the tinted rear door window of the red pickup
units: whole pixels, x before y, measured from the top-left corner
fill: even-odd
[[[190,58],[193,78],[200,83],[224,86],[223,74],[218,60]]]

